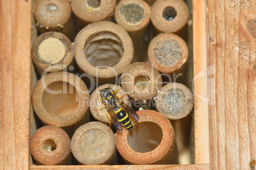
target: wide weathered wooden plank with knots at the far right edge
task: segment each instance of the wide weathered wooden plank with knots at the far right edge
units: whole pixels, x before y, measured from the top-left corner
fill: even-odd
[[[216,100],[210,107],[215,169],[250,169],[250,160],[256,159],[255,5],[227,0],[207,4],[209,65],[216,69],[216,86],[210,86]]]

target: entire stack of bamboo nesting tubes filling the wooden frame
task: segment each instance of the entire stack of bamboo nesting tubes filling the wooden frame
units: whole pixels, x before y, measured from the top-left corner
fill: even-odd
[[[32,13],[33,164],[186,161],[194,99],[183,0],[37,0]]]

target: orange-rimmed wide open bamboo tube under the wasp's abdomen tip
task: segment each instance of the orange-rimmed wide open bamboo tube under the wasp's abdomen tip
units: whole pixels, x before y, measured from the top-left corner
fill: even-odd
[[[136,112],[131,132],[117,131],[117,150],[128,164],[177,164],[174,130],[166,117],[153,110]]]

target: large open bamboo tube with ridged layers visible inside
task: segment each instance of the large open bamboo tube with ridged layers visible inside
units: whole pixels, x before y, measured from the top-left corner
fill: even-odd
[[[129,34],[113,22],[95,22],[83,28],[75,39],[75,60],[80,73],[87,73],[85,82],[101,84],[115,83],[133,58],[132,39]],[[90,90],[91,91],[91,90]]]

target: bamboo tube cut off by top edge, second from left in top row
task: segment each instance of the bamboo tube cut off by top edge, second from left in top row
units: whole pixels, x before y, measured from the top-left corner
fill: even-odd
[[[113,16],[116,0],[74,0],[71,8],[76,18],[76,27],[81,30],[85,25],[101,20],[110,20]]]

